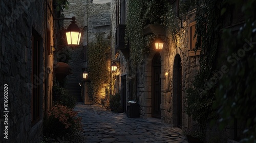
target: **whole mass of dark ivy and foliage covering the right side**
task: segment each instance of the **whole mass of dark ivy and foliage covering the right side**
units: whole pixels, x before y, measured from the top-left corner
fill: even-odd
[[[196,50],[202,49],[201,68],[193,87],[187,89],[186,112],[193,115],[202,130],[205,131],[205,124],[218,113],[220,120],[216,118],[215,121],[221,123],[222,129],[227,125],[233,126],[235,119],[242,121],[239,124],[245,123],[245,136],[241,142],[256,141],[255,6],[255,0],[215,0],[205,1],[202,7],[197,8],[196,34],[201,37],[201,41],[197,39]],[[232,15],[232,8],[238,13],[242,12],[244,18],[244,25],[237,34],[231,29],[222,28],[223,16]],[[222,64],[226,64],[221,66],[225,73],[216,70],[216,54],[221,38],[222,47],[228,51],[220,59]],[[239,54],[240,57],[233,57]]]

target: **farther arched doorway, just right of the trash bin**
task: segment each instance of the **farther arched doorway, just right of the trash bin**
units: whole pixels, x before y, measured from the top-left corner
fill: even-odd
[[[161,118],[161,56],[156,53],[152,60],[152,117]]]

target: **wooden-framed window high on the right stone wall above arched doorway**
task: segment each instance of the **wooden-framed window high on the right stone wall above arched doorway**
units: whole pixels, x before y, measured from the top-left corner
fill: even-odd
[[[197,52],[194,51],[197,42],[197,36],[194,38],[196,33],[196,21],[191,22],[188,28],[188,57],[200,55],[200,49],[198,49]]]

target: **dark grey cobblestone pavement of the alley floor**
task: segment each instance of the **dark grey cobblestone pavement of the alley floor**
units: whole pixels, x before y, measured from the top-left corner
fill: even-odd
[[[129,118],[100,105],[82,103],[75,110],[82,117],[86,142],[187,142],[181,129],[157,118]]]

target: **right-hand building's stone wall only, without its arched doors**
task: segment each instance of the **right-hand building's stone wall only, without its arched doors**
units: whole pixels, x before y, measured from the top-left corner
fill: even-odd
[[[119,4],[120,5],[120,4]],[[119,6],[120,8],[120,6]],[[136,78],[136,97],[140,104],[140,117],[152,116],[152,60],[157,51],[152,51],[150,54],[145,55],[144,63],[136,67],[136,69],[129,69],[129,60],[126,60],[121,51],[115,50],[116,40],[116,1],[111,1],[111,22],[112,22],[112,59],[119,61],[120,70],[117,75],[126,75],[127,79]],[[199,70],[199,56],[188,56],[188,25],[190,22],[195,21],[195,13],[185,15],[183,19],[183,28],[179,24],[179,32],[176,34],[176,39],[172,39],[172,36],[166,35],[170,40],[164,39],[164,49],[160,52],[161,55],[161,120],[168,124],[174,124],[177,126],[177,110],[176,100],[176,85],[177,77],[174,70],[176,70],[175,57],[181,58],[182,66],[182,126],[188,127],[190,118],[185,114],[186,97],[185,90],[191,85],[194,80],[196,71]],[[120,19],[119,19],[120,20]],[[178,19],[179,20],[179,19]],[[179,22],[178,22],[179,23]],[[129,91],[129,85],[127,80],[127,95],[131,94]],[[120,80],[119,80],[120,81]],[[119,84],[120,89],[121,84]]]

